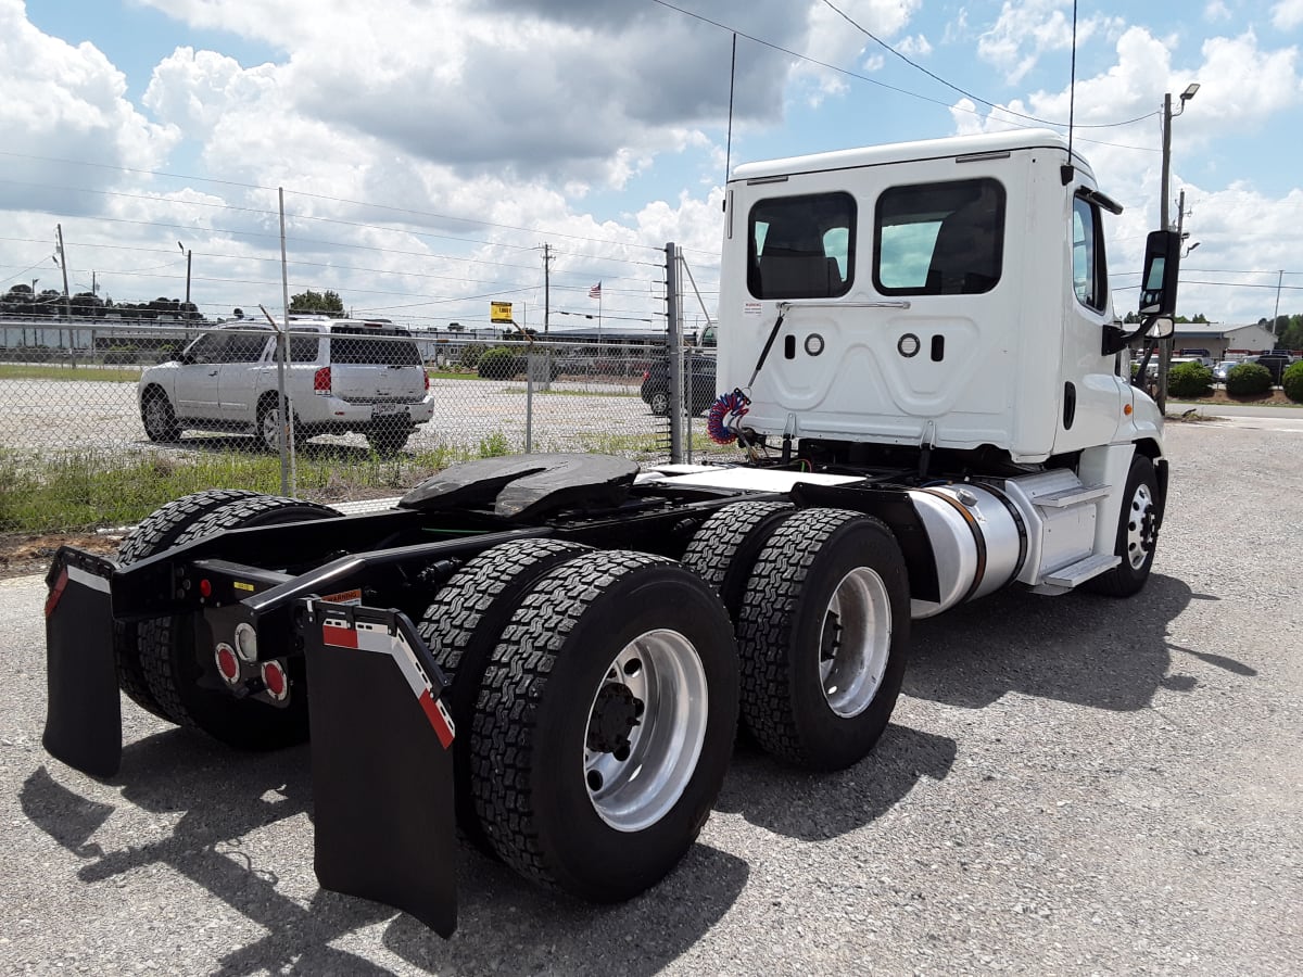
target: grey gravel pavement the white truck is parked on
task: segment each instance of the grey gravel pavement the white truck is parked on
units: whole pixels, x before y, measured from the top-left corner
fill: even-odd
[[[1139,598],[917,623],[872,757],[810,776],[739,746],[700,843],[632,903],[463,848],[451,941],[318,888],[302,749],[236,756],[126,706],[112,782],[47,757],[43,589],[0,581],[0,970],[1296,973],[1303,421],[1169,443]]]

